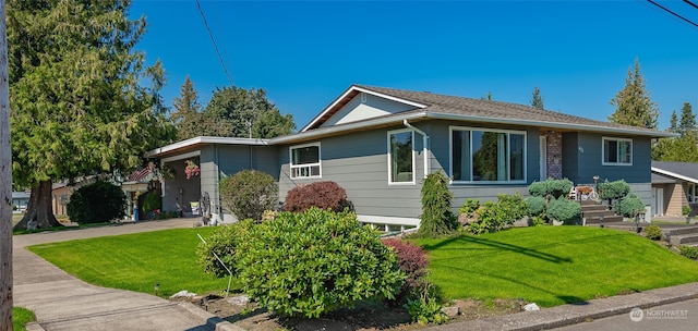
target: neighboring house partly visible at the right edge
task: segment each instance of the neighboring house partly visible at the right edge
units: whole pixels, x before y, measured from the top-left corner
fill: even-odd
[[[683,206],[698,211],[698,163],[652,161],[652,210],[655,216],[681,217]]]

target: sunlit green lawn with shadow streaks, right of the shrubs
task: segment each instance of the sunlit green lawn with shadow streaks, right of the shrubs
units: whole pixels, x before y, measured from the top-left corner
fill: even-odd
[[[698,262],[611,229],[535,226],[419,240],[447,298],[524,298],[541,306],[698,281]]]

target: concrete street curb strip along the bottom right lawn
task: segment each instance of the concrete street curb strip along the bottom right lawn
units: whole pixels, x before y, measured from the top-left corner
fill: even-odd
[[[698,283],[655,289],[647,292],[617,295],[609,298],[591,299],[585,304],[569,304],[535,311],[521,311],[512,315],[443,324],[428,328],[425,330],[530,331],[555,329],[605,317],[628,314],[633,308],[647,309],[694,298],[698,298]]]

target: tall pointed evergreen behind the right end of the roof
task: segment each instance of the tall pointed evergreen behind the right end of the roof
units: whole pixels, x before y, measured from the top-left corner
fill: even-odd
[[[650,99],[650,93],[645,86],[645,78],[640,73],[638,59],[635,59],[635,69],[628,68],[625,87],[611,99],[611,105],[615,106],[616,110],[609,117],[609,121],[625,125],[657,128],[659,109]]]

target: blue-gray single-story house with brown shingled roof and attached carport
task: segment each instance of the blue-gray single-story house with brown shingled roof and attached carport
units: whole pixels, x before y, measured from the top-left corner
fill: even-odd
[[[218,181],[257,169],[278,181],[281,201],[298,185],[334,181],[361,221],[399,229],[419,225],[421,181],[436,171],[452,179],[454,210],[466,198],[526,193],[541,179],[591,184],[594,175],[624,179],[650,205],[651,140],[670,136],[509,102],[352,85],[296,134],[196,137],[148,157],[178,172],[165,181],[165,210],[207,192],[214,217],[230,220]],[[201,167],[195,182],[181,179],[185,160]]]

